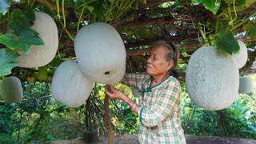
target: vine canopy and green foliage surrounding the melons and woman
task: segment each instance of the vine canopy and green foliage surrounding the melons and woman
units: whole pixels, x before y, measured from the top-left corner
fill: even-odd
[[[84,130],[98,128],[106,135],[102,84],[94,86],[90,99],[71,109],[55,102],[50,95],[50,81],[56,67],[74,59],[74,37],[82,26],[108,22],[122,36],[126,45],[128,72],[144,71],[146,52],[159,39],[171,41],[181,50],[178,72],[182,83],[182,127],[186,134],[217,135],[256,139],[256,94],[239,94],[225,110],[202,110],[186,93],[187,62],[201,46],[218,46],[229,54],[238,52],[237,38],[246,42],[248,62],[255,61],[255,0],[2,0],[0,1],[0,79],[14,75],[22,80],[22,102],[0,102],[0,143],[44,142],[82,138]],[[58,54],[50,64],[32,69],[19,68],[14,58],[18,51],[30,52],[31,45],[43,45],[34,24],[33,11],[50,14],[58,26]],[[12,31],[11,31],[12,30]],[[255,75],[250,75],[255,80]],[[132,99],[130,88],[116,86]],[[137,134],[138,118],[129,106],[110,102],[114,134]]]

